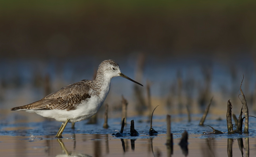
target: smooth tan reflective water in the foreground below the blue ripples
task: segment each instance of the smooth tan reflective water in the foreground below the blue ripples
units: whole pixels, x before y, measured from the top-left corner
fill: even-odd
[[[166,134],[154,137],[144,134],[132,138],[102,134],[73,134],[66,135],[63,139],[55,139],[54,135],[34,139],[22,136],[0,136],[0,151],[2,156],[249,157],[249,137],[216,139],[215,135],[211,136],[201,139],[198,135],[190,135],[188,154],[184,154],[184,150],[178,145],[180,138],[174,139],[173,149],[165,145]],[[234,142],[235,140],[238,144]],[[250,155],[253,157],[256,156],[256,140],[251,138],[250,141]]]

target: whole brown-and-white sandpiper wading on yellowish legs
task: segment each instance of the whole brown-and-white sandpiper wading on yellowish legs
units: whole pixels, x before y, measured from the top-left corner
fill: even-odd
[[[63,122],[56,135],[57,138],[61,138],[68,122],[88,119],[100,109],[109,93],[111,78],[116,76],[122,76],[143,86],[122,74],[118,63],[109,59],[98,66],[95,80],[73,83],[41,100],[11,110],[36,112],[43,117]]]

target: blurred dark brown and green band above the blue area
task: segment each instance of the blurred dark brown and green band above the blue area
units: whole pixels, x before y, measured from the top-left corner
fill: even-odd
[[[253,53],[254,1],[1,1],[0,55]]]

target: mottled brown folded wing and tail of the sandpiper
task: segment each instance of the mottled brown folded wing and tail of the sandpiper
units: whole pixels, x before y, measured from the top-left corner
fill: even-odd
[[[11,110],[74,110],[82,101],[88,101],[92,96],[90,93],[92,81],[82,80],[61,88],[60,90],[44,97],[43,99]]]

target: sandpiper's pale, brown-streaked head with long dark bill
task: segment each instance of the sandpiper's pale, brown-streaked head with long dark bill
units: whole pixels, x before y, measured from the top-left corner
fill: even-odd
[[[132,80],[131,78],[127,77],[126,75],[122,74],[120,71],[119,65],[116,61],[109,59],[101,62],[101,64],[98,67],[96,79],[101,79],[102,77],[104,77],[111,80],[111,78],[117,77],[117,76],[122,76],[132,82],[142,85]]]

